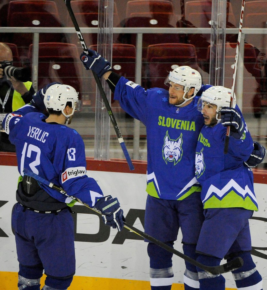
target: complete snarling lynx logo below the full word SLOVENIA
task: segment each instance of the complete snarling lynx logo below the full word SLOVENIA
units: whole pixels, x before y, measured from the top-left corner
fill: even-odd
[[[163,159],[165,160],[166,164],[168,161],[174,162],[176,165],[182,158],[183,150],[182,150],[182,133],[178,139],[173,140],[170,139],[168,131],[164,137],[164,145],[162,148]]]

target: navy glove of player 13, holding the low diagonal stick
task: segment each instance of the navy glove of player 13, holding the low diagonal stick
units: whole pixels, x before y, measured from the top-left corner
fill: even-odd
[[[101,197],[95,204],[97,210],[101,211],[102,218],[108,226],[121,231],[123,229],[123,210],[120,208],[120,203],[111,195]]]

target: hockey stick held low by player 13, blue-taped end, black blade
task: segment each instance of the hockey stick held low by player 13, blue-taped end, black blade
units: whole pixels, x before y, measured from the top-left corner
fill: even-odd
[[[101,215],[101,212],[97,211],[96,208],[91,208],[89,205],[84,204],[78,198],[73,197],[73,196],[69,196],[66,193],[66,191],[64,191],[64,189],[62,189],[61,187],[53,184],[52,182],[49,182],[48,180],[43,179],[39,175],[33,173],[32,171],[29,171],[26,168],[24,168],[23,172],[24,172],[25,175],[33,177],[38,182],[40,182],[42,184],[45,184],[45,185],[51,187],[52,189],[55,189],[56,191],[66,195],[67,197],[70,197],[71,199],[80,202],[81,204],[85,205],[86,207],[88,207],[92,211],[95,211],[96,213]],[[189,263],[191,263],[191,264],[203,269],[204,271],[208,271],[209,273],[212,273],[213,275],[218,275],[218,274],[226,273],[226,272],[229,272],[229,271],[234,271],[234,270],[242,267],[242,265],[243,265],[243,259],[240,258],[240,257],[237,257],[234,260],[232,260],[232,261],[230,261],[228,263],[225,263],[223,265],[219,265],[219,266],[210,267],[210,266],[203,265],[203,264],[197,262],[196,260],[188,257],[187,255],[184,255],[183,253],[181,253],[181,252],[169,247],[168,245],[164,244],[163,242],[160,242],[159,240],[151,237],[150,235],[140,231],[139,229],[136,229],[134,226],[131,226],[130,224],[127,224],[127,222],[123,221],[123,224],[124,224],[124,227],[126,229],[131,230],[132,232],[136,233],[137,235],[149,240],[150,242],[158,245],[159,247],[162,247],[166,251],[169,251],[169,252],[177,255],[178,257],[180,257],[180,258],[186,260],[187,262],[189,262]]]

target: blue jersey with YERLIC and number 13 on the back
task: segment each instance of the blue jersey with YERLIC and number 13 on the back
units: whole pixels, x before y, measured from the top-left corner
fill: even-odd
[[[27,104],[3,120],[9,140],[16,146],[19,173],[27,168],[61,186],[90,207],[103,193],[97,182],[86,175],[85,146],[79,133],[65,125],[46,123],[46,116]],[[69,203],[71,198],[40,184],[55,199]]]

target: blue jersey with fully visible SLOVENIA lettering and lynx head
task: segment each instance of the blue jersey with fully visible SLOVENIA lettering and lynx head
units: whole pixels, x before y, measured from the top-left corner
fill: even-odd
[[[151,196],[182,200],[200,191],[194,172],[197,139],[204,124],[196,107],[198,98],[180,108],[169,104],[168,90],[144,90],[124,77],[116,85],[114,99],[146,126],[146,191]]]

